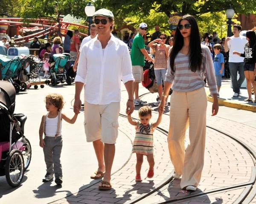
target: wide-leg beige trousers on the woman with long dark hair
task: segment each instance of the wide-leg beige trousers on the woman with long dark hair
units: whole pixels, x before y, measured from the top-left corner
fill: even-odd
[[[182,174],[180,187],[197,187],[204,166],[207,96],[204,88],[191,92],[173,91],[170,101],[169,153],[175,172]],[[189,126],[190,144],[185,150]]]

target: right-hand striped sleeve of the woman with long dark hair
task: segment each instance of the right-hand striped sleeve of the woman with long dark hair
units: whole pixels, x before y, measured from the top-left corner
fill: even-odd
[[[207,79],[207,83],[209,86],[209,90],[211,94],[218,94],[217,90],[217,84],[216,84],[216,78],[215,78],[215,71],[214,71],[214,66],[212,62],[212,56],[210,53],[209,48],[204,47],[204,67],[205,67],[205,76]]]

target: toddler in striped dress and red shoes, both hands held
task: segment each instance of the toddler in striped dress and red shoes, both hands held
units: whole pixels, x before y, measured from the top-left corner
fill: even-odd
[[[153,155],[153,132],[154,129],[160,124],[162,114],[159,113],[157,122],[149,123],[151,119],[151,109],[149,106],[143,106],[139,109],[140,121],[131,119],[131,114],[128,115],[128,122],[135,126],[136,135],[132,147],[132,153],[136,153],[136,177],[135,181],[142,181],[140,177],[141,165],[143,163],[143,155],[147,156],[149,170],[148,178],[154,176],[154,155]]]

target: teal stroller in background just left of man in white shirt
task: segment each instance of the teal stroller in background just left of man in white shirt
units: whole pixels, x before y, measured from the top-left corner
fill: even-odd
[[[72,71],[72,66],[75,60],[74,57],[70,58],[70,54],[63,53],[63,54],[54,54],[52,56],[54,63],[52,63],[51,67],[51,76],[50,80],[47,79],[46,83],[52,86],[55,86],[59,83],[67,82],[67,85],[71,85],[73,82],[73,77],[75,76]],[[72,69],[72,70],[71,70]]]

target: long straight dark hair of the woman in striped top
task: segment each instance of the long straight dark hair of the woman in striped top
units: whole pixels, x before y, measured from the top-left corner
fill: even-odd
[[[191,25],[191,34],[190,34],[190,40],[189,40],[189,68],[193,72],[196,72],[197,70],[200,71],[203,55],[202,55],[202,49],[201,49],[201,39],[200,39],[198,24],[195,20],[195,17],[193,17],[192,15],[184,15],[183,17],[181,17],[178,22],[178,25],[180,25],[180,22],[182,20],[187,20]],[[181,50],[183,45],[184,45],[184,38],[177,27],[175,36],[174,36],[172,51],[170,53],[170,58],[169,58],[172,71],[175,71],[174,70],[175,57],[177,56],[178,52]]]

